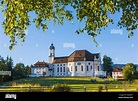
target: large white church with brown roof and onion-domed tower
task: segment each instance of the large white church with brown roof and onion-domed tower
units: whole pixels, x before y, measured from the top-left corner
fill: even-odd
[[[55,57],[53,43],[49,48],[49,62],[36,62],[32,74],[39,76],[106,76],[101,69],[100,53],[75,50],[69,56]]]

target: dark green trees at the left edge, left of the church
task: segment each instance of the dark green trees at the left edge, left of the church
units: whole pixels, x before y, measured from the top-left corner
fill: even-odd
[[[14,66],[13,59],[11,57],[7,56],[6,59],[4,59],[2,56],[0,56],[0,71],[9,71],[9,73],[11,73],[11,75],[3,75],[1,73],[0,83],[28,77],[28,75],[31,73],[32,66],[33,65],[25,66],[23,63],[16,63]]]

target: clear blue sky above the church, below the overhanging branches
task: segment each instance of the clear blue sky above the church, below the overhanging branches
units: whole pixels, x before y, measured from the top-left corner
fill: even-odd
[[[33,14],[30,14],[33,17]],[[138,30],[134,31],[134,36],[128,38],[128,32],[117,26],[117,21],[121,13],[111,15],[115,24],[109,24],[108,28],[102,30],[96,37],[99,44],[93,42],[93,39],[87,34],[76,34],[75,30],[84,26],[84,23],[78,23],[74,19],[73,23],[65,20],[64,26],[54,26],[52,22],[48,24],[48,30],[43,32],[31,24],[26,31],[26,41],[18,43],[13,50],[9,50],[9,37],[4,34],[2,25],[0,26],[0,55],[2,57],[11,56],[14,65],[22,62],[25,65],[34,64],[37,61],[48,62],[49,46],[53,42],[55,54],[58,56],[68,56],[75,50],[86,49],[91,53],[101,53],[112,58],[113,63],[126,64],[132,62],[138,64]],[[0,12],[0,24],[4,17]],[[120,32],[114,32],[114,31]],[[114,33],[113,33],[114,32]],[[65,45],[72,45],[65,47]]]

